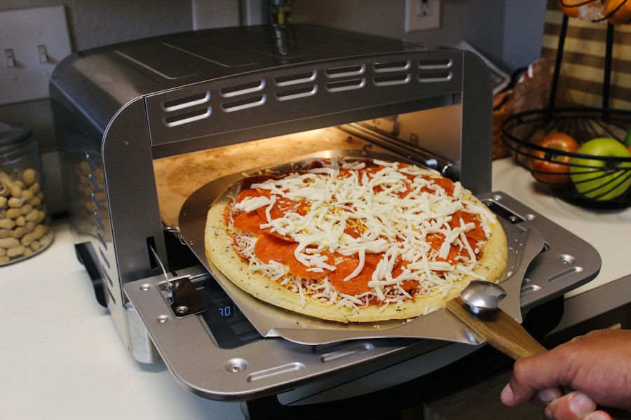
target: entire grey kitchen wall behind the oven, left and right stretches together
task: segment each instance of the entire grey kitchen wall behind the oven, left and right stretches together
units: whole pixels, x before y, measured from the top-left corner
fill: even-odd
[[[58,4],[65,6],[74,51],[193,28],[191,0],[2,0],[0,10]],[[441,0],[440,29],[409,34],[403,29],[404,4],[404,0],[294,0],[292,18],[439,45],[466,40],[509,73],[538,57],[545,0]],[[48,99],[0,106],[0,121],[33,127],[43,152],[49,207],[53,213],[63,211]]]

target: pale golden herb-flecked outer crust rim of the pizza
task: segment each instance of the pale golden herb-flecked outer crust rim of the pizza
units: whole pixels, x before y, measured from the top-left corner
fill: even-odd
[[[226,228],[225,212],[234,195],[238,192],[238,183],[224,191],[212,203],[205,225],[206,257],[229,281],[259,300],[277,307],[313,316],[327,321],[376,322],[393,319],[407,319],[422,316],[430,311],[444,307],[448,300],[459,295],[460,291],[473,280],[463,278],[454,282],[447,295],[416,296],[413,300],[405,300],[399,304],[387,306],[370,305],[357,309],[355,307],[336,307],[320,300],[305,296],[304,299],[259,272],[252,271],[233,247],[233,239]],[[476,197],[468,196],[482,204]],[[484,205],[484,204],[482,204]],[[475,274],[488,281],[497,281],[506,268],[508,245],[501,224],[495,219],[491,221],[491,235],[482,248],[482,258],[473,269]]]

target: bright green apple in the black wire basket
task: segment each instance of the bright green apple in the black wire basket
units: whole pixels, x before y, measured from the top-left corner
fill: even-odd
[[[583,144],[576,153],[594,158],[572,158],[570,174],[578,193],[599,201],[613,200],[631,186],[631,162],[606,161],[598,157],[631,158],[626,146],[611,137]]]

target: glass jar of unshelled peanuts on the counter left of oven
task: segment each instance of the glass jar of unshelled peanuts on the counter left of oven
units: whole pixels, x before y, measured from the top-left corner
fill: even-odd
[[[53,241],[43,176],[31,127],[0,123],[0,267],[46,249]]]

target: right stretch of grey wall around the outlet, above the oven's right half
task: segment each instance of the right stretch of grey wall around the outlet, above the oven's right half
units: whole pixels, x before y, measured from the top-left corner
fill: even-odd
[[[511,73],[539,57],[545,0],[441,0],[440,29],[405,33],[404,0],[294,0],[294,21],[423,43],[467,41]]]

